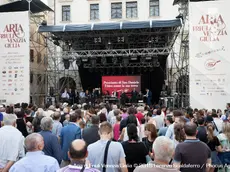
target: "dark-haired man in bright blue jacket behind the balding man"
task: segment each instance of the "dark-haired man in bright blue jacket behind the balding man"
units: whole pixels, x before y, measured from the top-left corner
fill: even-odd
[[[81,114],[74,113],[70,115],[70,123],[61,130],[60,143],[62,149],[61,167],[69,165],[68,150],[71,142],[75,139],[81,139],[81,128],[77,125],[77,121],[82,119]]]

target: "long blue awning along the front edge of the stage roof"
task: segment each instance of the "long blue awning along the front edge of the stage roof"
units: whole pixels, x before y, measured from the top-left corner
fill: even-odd
[[[182,24],[180,19],[150,20],[150,21],[135,21],[135,22],[39,26],[38,32],[84,32],[84,31],[91,31],[91,30],[124,30],[124,29],[160,28],[160,27],[179,27],[181,25]]]

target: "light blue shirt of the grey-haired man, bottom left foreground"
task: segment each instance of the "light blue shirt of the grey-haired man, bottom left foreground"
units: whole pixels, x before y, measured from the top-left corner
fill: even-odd
[[[44,155],[42,151],[27,152],[26,156],[16,162],[9,172],[56,172],[59,164],[56,159]]]

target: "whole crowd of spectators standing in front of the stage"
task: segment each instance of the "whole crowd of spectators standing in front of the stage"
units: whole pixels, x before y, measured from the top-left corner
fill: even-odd
[[[0,172],[230,171],[227,109],[0,106]]]

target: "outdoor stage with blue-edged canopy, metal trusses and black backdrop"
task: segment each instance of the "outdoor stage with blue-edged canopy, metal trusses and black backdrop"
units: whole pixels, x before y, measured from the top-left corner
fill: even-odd
[[[166,61],[181,27],[181,20],[93,23],[39,27],[61,47],[66,69],[70,60],[79,67],[84,90],[101,87],[102,76],[140,75],[141,88],[158,102]]]

